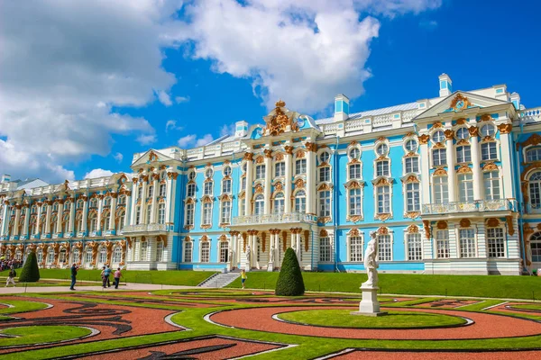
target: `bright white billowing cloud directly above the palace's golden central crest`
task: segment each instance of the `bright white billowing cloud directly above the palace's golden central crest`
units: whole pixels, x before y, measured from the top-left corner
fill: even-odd
[[[200,0],[186,8],[189,23],[169,40],[188,41],[193,58],[252,79],[267,107],[316,112],[335,94],[356,97],[371,76],[365,68],[380,22],[372,16],[417,14],[439,0]],[[193,44],[193,47],[191,46]]]

